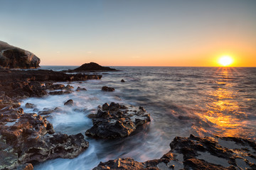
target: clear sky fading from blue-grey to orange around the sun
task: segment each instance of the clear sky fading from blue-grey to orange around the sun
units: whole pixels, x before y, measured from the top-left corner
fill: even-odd
[[[0,16],[41,65],[256,67],[255,0],[1,0]]]

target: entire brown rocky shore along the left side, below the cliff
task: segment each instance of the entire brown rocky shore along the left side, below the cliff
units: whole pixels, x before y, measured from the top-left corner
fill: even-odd
[[[0,169],[33,169],[35,162],[58,157],[70,159],[85,151],[89,143],[81,133],[55,133],[53,125],[43,116],[50,111],[39,111],[40,115],[23,113],[19,101],[73,92],[73,86],[54,82],[101,78],[101,75],[51,70],[0,69]],[[33,104],[27,103],[26,107],[33,108]]]

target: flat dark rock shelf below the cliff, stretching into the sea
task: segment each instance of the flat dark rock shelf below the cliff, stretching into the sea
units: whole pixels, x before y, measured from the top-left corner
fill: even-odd
[[[53,84],[55,81],[85,81],[101,78],[101,75],[65,74],[64,72],[53,72],[51,70],[0,69],[0,96],[5,98],[4,101],[0,99],[0,108],[15,103],[14,98],[40,97],[47,94],[70,94],[73,91],[73,86]]]

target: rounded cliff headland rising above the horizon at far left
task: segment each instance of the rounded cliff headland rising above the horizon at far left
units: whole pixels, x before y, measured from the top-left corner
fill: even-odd
[[[32,52],[0,41],[0,68],[29,69],[39,67],[40,59]]]

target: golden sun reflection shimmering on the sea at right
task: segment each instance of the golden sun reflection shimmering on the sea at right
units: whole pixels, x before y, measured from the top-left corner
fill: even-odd
[[[193,125],[193,129],[199,135],[212,133],[218,136],[240,136],[246,137],[247,132],[243,129],[243,123],[247,114],[240,109],[238,91],[233,90],[233,84],[230,83],[230,74],[232,69],[219,69],[220,78],[215,81],[218,88],[207,91],[210,102],[206,104],[206,112],[196,113],[201,120],[202,125]],[[207,124],[208,127],[205,125]],[[210,130],[208,130],[210,128]]]

